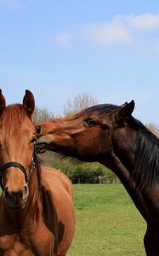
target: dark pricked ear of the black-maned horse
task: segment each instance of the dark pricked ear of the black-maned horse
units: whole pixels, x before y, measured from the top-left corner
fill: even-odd
[[[121,107],[116,112],[116,121],[124,121],[124,119],[127,119],[133,113],[134,101],[125,102]]]

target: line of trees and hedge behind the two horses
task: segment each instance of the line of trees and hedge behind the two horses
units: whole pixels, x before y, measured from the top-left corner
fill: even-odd
[[[69,116],[73,113],[81,111],[83,108],[88,108],[98,104],[93,96],[81,93],[73,100],[69,99],[65,103],[61,116]],[[57,117],[52,111],[47,108],[36,108],[33,115],[35,123],[43,122],[47,119]],[[159,137],[159,127],[155,124],[145,125],[151,132]],[[43,162],[47,166],[64,172],[72,183],[119,183],[118,177],[105,166],[99,163],[82,162],[71,157],[66,157],[54,152],[46,152],[41,155]]]

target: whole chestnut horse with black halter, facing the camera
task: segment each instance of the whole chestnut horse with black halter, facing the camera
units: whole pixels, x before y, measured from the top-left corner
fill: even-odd
[[[75,230],[71,181],[41,166],[34,96],[6,107],[0,90],[0,255],[65,256]]]

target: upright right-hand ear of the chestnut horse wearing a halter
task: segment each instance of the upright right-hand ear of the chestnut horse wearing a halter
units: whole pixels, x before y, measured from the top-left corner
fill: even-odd
[[[23,108],[26,109],[28,116],[31,118],[35,108],[35,100],[30,90],[26,90],[26,95],[23,98]]]

